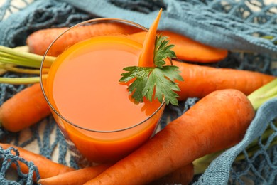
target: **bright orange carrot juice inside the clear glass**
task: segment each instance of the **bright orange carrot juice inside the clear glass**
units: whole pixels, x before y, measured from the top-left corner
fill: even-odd
[[[162,109],[148,119],[161,103],[135,103],[119,83],[123,68],[138,65],[141,47],[120,36],[94,37],[68,48],[50,68],[46,93],[67,121],[54,113],[55,120],[92,162],[124,157],[151,137],[161,117]]]

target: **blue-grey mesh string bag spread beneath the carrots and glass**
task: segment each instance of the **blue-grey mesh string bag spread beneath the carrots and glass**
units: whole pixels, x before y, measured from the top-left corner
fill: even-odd
[[[18,2],[21,6],[18,6]],[[271,1],[273,2],[273,1]],[[229,55],[217,68],[253,70],[277,76],[277,5],[262,0],[4,0],[0,2],[0,44],[9,47],[25,45],[33,31],[72,26],[89,18],[114,17],[150,26],[157,11],[163,8],[160,29],[181,33],[210,46],[227,48]],[[4,77],[20,77],[5,73]],[[26,85],[0,84],[0,105]],[[196,97],[168,105],[161,120],[161,128],[197,102]],[[262,105],[251,122],[244,139],[212,161],[204,173],[195,175],[192,184],[276,184],[277,99]],[[267,139],[262,135],[271,132]],[[219,133],[220,134],[220,133]],[[22,132],[11,133],[0,129],[0,142],[34,149],[55,162],[78,168],[70,156],[53,117],[47,117]],[[251,154],[249,144],[256,141]],[[30,148],[35,145],[36,147]],[[16,152],[12,155],[11,151]],[[243,160],[237,157],[243,156]],[[33,184],[33,172],[40,176],[32,162],[18,157],[16,149],[0,149],[0,184]],[[26,163],[30,171],[10,171],[11,163]],[[12,176],[12,178],[11,178]],[[16,176],[16,178],[14,178]]]

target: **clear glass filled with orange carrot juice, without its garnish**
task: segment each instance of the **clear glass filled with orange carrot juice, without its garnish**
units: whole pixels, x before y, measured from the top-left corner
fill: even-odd
[[[68,28],[45,53],[40,84],[81,166],[116,162],[156,131],[165,103],[135,102],[119,83],[123,68],[138,65],[143,43],[132,35],[141,31],[130,21],[97,18]]]

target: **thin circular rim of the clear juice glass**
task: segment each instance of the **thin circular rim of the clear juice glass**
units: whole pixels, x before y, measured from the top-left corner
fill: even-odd
[[[53,46],[53,44],[55,43],[55,41],[57,41],[61,36],[63,36],[64,33],[66,33],[67,31],[70,31],[72,28],[75,28],[77,26],[82,26],[82,25],[85,25],[86,23],[92,23],[92,22],[99,22],[99,21],[118,21],[118,22],[121,22],[121,23],[128,23],[130,25],[133,25],[133,26],[136,26],[138,28],[141,28],[143,31],[148,31],[147,28],[145,28],[144,26],[141,26],[139,23],[135,23],[133,21],[128,21],[128,20],[124,20],[124,19],[121,19],[121,18],[93,18],[93,19],[89,19],[87,21],[82,21],[80,23],[77,23],[73,26],[70,26],[69,28],[67,28],[65,31],[63,31],[62,33],[60,33],[59,36],[57,36],[55,38],[55,40],[50,43],[50,46],[48,46],[47,50],[45,51],[44,55],[43,55],[43,60],[41,62],[41,65],[40,65],[40,88],[43,92],[43,96],[45,97],[45,100],[46,102],[48,103],[48,105],[50,106],[50,109],[53,110],[55,112],[55,114],[58,115],[58,117],[60,117],[62,120],[64,120],[65,122],[69,123],[70,125],[74,126],[74,127],[77,127],[79,129],[83,129],[85,131],[89,131],[89,132],[99,132],[99,133],[113,133],[113,132],[122,132],[122,131],[125,131],[127,129],[132,129],[134,127],[137,127],[139,125],[142,125],[144,122],[147,122],[148,120],[151,119],[151,117],[153,117],[154,115],[156,115],[156,113],[158,111],[160,111],[162,109],[162,107],[165,105],[165,100],[163,100],[163,102],[161,103],[161,105],[158,107],[157,110],[155,110],[155,112],[153,112],[151,115],[149,115],[146,119],[142,120],[141,122],[137,123],[137,124],[134,124],[134,125],[131,125],[130,127],[126,127],[126,128],[122,128],[122,129],[114,129],[114,130],[97,130],[97,129],[87,129],[85,127],[80,127],[79,125],[76,125],[75,123],[71,122],[70,120],[67,120],[67,118],[65,118],[63,115],[61,115],[58,110],[56,110],[53,105],[51,104],[50,100],[48,100],[48,97],[45,93],[45,90],[43,88],[43,64],[44,64],[44,61],[45,61],[45,58],[47,56],[47,53],[48,51],[50,50],[51,46]]]

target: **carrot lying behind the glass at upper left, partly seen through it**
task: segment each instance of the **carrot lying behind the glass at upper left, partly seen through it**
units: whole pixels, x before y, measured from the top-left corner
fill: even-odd
[[[48,28],[35,31],[26,39],[27,46],[31,53],[44,55],[50,44],[66,31],[67,28]],[[123,23],[97,23],[89,26],[77,26],[69,33],[65,33],[63,39],[58,39],[48,52],[50,56],[58,56],[65,48],[74,43],[90,38],[92,36],[103,36],[107,34],[131,34],[141,31],[139,28],[128,26]]]

